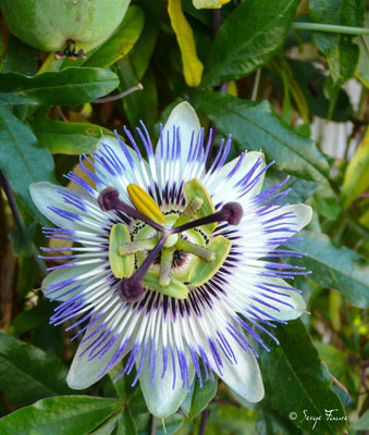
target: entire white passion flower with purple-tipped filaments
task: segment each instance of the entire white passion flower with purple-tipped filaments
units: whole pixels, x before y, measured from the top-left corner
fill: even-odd
[[[60,227],[45,228],[47,237],[75,243],[60,256],[71,261],[50,268],[42,283],[45,295],[62,302],[51,322],[75,320],[69,328],[85,334],[69,385],[86,388],[126,357],[120,376],[136,368],[133,384],[139,380],[157,417],[177,410],[195,375],[200,385],[218,375],[243,398],[261,400],[250,338],[267,349],[257,331],[305,310],[284,281],[305,272],[280,261],[300,253],[278,246],[296,243],[310,208],[279,204],[283,183],[261,192],[269,167],[262,153],[225,163],[231,138],[206,170],[211,137],[204,147],[186,102],[171,113],[155,151],[145,126],[137,128],[147,160],[125,133],[133,149],[107,137],[94,162],[85,157],[95,172],[81,159],[94,187],[71,172],[79,189],[30,188]]]

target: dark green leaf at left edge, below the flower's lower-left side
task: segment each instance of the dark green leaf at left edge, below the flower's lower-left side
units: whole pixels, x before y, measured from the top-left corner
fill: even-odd
[[[59,359],[0,334],[0,389],[14,403],[25,406],[40,398],[71,394],[66,373]],[[0,433],[3,434],[1,430]]]

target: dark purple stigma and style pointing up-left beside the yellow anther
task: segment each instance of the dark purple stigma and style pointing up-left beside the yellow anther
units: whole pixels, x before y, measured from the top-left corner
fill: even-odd
[[[161,225],[152,221],[146,214],[139,212],[138,210],[134,209],[127,203],[121,201],[119,199],[119,191],[114,187],[107,187],[106,189],[103,189],[99,195],[97,201],[102,211],[120,210],[127,216],[143,221],[146,224],[150,225],[152,228],[158,229],[161,233],[164,231],[164,228]]]

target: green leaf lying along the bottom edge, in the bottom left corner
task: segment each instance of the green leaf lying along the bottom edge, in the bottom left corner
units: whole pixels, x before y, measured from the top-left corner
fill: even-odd
[[[1,435],[88,434],[121,407],[116,399],[60,396],[39,400],[0,420]]]

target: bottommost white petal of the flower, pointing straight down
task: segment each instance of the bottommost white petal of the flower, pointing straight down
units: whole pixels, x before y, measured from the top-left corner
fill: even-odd
[[[188,353],[188,352],[187,352]],[[188,371],[189,371],[189,385],[192,384],[195,375],[194,363],[190,356],[186,355]],[[147,372],[148,358],[145,358],[142,373],[139,375],[140,387],[145,397],[148,410],[157,418],[164,419],[165,417],[174,414],[183,402],[188,389],[187,385],[183,388],[181,378],[181,370],[175,358],[176,381],[173,388],[173,364],[170,349],[168,349],[168,366],[164,377],[161,378],[163,371],[163,352],[162,345],[159,341],[157,353],[157,366],[155,380],[150,388],[151,371]]]

